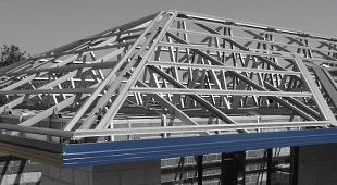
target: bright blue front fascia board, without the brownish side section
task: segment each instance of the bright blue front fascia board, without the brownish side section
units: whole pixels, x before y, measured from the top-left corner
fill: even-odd
[[[64,145],[63,165],[101,165],[173,157],[337,141],[337,128]]]

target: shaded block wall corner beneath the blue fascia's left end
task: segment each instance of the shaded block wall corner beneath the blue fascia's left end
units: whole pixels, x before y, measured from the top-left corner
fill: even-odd
[[[60,169],[42,164],[43,185],[158,185],[160,160]]]

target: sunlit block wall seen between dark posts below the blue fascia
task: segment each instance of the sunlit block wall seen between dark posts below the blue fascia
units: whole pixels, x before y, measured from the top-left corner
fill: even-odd
[[[290,148],[277,148],[273,150],[273,164],[284,165],[290,160]],[[239,157],[240,156],[240,157]],[[266,150],[250,150],[241,152],[237,158],[234,166],[232,162],[222,163],[222,153],[204,155],[202,159],[203,165],[203,184],[221,184],[226,177],[222,175],[232,175],[233,170],[238,171],[238,184],[263,185],[266,184],[267,158]],[[287,159],[288,161],[285,161]],[[230,159],[225,159],[226,161]],[[192,156],[183,158],[168,158],[161,160],[162,165],[162,184],[196,184],[198,182],[198,165],[196,158]],[[244,171],[245,169],[245,171]],[[224,174],[222,174],[224,173]],[[245,173],[245,174],[244,174]],[[272,182],[276,184],[288,184],[289,173],[274,170],[272,173]],[[244,181],[245,177],[245,181]],[[233,182],[225,182],[233,183]]]

